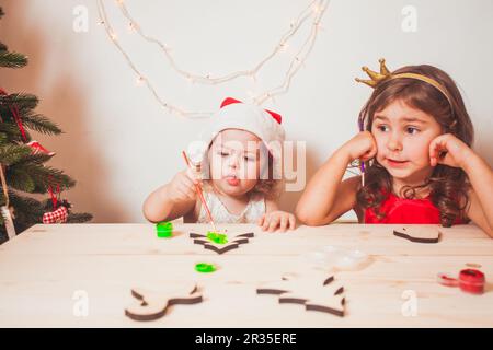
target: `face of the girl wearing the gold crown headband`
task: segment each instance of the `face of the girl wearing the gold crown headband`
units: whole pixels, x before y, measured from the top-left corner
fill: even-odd
[[[375,113],[371,133],[377,161],[392,177],[417,184],[429,176],[429,143],[442,133],[432,115],[398,100]]]

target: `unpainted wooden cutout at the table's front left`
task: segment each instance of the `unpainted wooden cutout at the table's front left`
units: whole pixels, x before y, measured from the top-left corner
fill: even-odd
[[[134,288],[131,295],[136,300],[125,308],[125,315],[135,320],[154,320],[164,316],[171,305],[202,302],[195,283],[174,284],[159,292]]]

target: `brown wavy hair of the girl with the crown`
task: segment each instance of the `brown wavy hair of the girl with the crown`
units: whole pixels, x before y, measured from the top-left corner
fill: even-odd
[[[371,131],[377,112],[400,100],[432,115],[442,126],[443,133],[452,133],[471,147],[473,141],[471,119],[459,89],[446,72],[433,66],[421,65],[406,66],[392,73],[417,73],[432,78],[446,89],[450,102],[435,86],[416,79],[399,78],[383,81],[377,85],[359,113],[359,121],[366,130]],[[392,191],[391,175],[374,159],[365,171],[365,186],[357,191],[357,205],[364,209],[372,209],[377,218],[381,219],[385,214],[379,212],[378,208]],[[465,209],[469,203],[470,184],[461,168],[438,164],[424,184],[415,187],[404,186],[400,195],[412,199],[420,188],[429,188],[431,200],[440,212],[443,226],[451,226],[458,218],[468,221]]]

